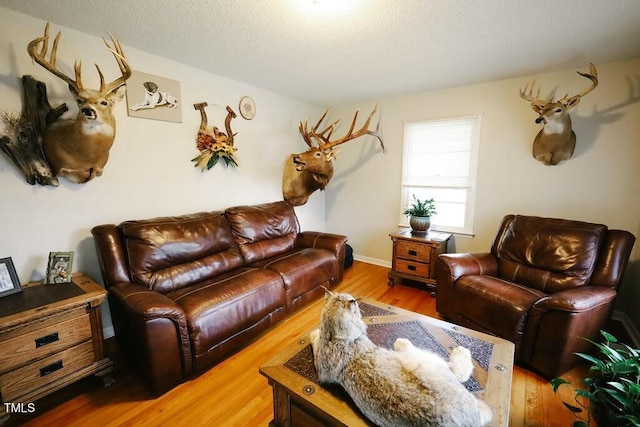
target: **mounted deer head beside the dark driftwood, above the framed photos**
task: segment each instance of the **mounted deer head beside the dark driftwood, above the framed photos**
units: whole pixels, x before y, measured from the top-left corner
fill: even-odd
[[[112,108],[124,96],[124,91],[119,89],[131,77],[131,68],[120,43],[109,34],[112,45],[104,39],[103,41],[115,57],[122,75],[111,83],[105,83],[100,67],[96,64],[100,75],[100,89],[86,89],[82,85],[80,61],[75,62],[75,79],[56,68],[60,36],[61,33],[58,32],[48,60],[49,23],[44,28],[44,35],[31,41],[27,47],[29,56],[35,62],[69,85],[69,91],[79,110],[75,119],[59,120],[45,130],[44,153],[55,176],[85,183],[102,175],[102,169],[109,159],[109,149],[116,134]]]

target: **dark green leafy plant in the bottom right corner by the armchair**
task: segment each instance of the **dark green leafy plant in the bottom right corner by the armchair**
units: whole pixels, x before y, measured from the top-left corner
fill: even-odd
[[[640,350],[619,343],[605,331],[600,333],[605,339],[602,344],[587,339],[600,350],[598,356],[575,353],[591,365],[583,379],[586,389],[574,388],[562,378],[551,380],[551,387],[554,393],[562,385],[574,392],[575,404],[563,402],[578,419],[574,427],[590,425],[592,417],[598,426],[640,426]]]

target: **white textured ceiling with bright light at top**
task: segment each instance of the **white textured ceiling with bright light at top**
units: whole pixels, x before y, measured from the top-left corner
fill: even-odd
[[[320,106],[640,57],[640,0],[0,5]]]

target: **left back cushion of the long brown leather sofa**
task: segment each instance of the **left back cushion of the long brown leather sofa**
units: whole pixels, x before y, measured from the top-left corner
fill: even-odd
[[[243,264],[222,212],[126,221],[118,226],[132,281],[167,293]]]

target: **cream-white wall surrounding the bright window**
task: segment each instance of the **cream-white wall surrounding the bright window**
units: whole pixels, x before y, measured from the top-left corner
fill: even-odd
[[[558,166],[533,159],[539,127],[519,89],[536,78],[542,96],[554,89],[560,96],[578,93],[589,81],[575,70],[380,99],[387,151],[371,151],[373,139],[345,146],[328,187],[327,229],[347,235],[357,256],[389,265],[389,233],[399,220],[403,123],[481,114],[475,236],[455,236],[450,251],[487,251],[508,213],[604,223],[640,236],[640,59],[596,65],[600,84],[572,113],[576,151]],[[585,64],[581,71],[587,70]],[[331,114],[349,123],[355,108],[365,112],[374,102],[334,106]],[[638,327],[640,243],[631,259],[617,308]]]

